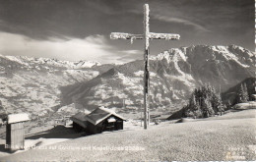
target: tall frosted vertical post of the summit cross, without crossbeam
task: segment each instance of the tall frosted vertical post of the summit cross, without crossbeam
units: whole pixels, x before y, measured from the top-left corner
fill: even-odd
[[[150,26],[149,26],[149,5],[144,6],[144,39],[145,39],[145,54],[144,54],[144,129],[147,130],[150,124],[149,114],[149,84],[150,84],[150,70],[149,70],[149,53],[150,53]]]

